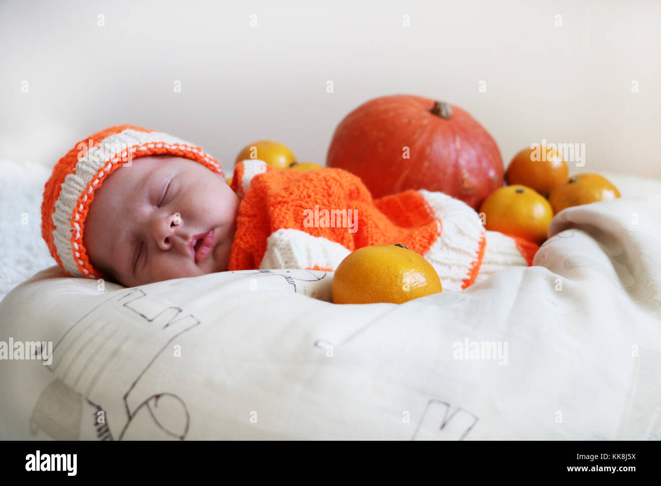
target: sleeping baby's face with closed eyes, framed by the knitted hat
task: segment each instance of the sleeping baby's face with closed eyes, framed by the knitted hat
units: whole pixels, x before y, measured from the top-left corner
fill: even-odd
[[[92,266],[127,287],[222,272],[238,212],[235,192],[201,163],[139,157],[95,191],[83,244]],[[210,230],[212,251],[196,263],[196,237]]]

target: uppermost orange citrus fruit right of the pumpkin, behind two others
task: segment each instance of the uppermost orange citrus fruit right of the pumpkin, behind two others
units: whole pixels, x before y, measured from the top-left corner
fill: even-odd
[[[542,196],[567,180],[569,168],[563,157],[554,149],[535,157],[533,149],[523,149],[507,167],[505,180],[508,184],[522,184],[536,190]],[[534,160],[539,158],[539,160]]]

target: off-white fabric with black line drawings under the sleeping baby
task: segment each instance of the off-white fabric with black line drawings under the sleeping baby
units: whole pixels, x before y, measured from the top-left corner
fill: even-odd
[[[0,362],[0,438],[661,438],[660,213],[570,208],[535,266],[402,305],[305,270],[44,270],[0,303],[0,341],[53,344]]]

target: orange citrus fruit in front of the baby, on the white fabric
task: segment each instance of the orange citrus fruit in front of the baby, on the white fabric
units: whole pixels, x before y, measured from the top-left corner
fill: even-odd
[[[402,304],[442,292],[431,263],[404,245],[371,245],[340,262],[332,279],[335,304]]]

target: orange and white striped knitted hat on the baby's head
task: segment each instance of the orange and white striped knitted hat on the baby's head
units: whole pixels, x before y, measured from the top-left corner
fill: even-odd
[[[112,126],[76,143],[55,165],[44,186],[42,202],[42,237],[67,276],[104,278],[93,268],[83,245],[85,218],[104,179],[145,155],[184,157],[225,179],[218,161],[200,147],[137,126]]]

